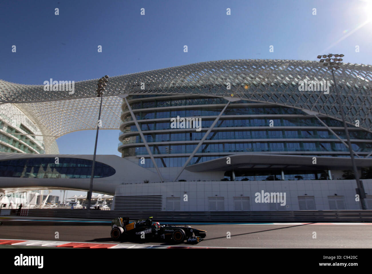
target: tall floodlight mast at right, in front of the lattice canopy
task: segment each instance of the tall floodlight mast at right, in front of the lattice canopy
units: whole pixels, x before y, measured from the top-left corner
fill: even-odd
[[[324,57],[325,55],[323,55]],[[333,54],[328,54],[328,57],[332,57]],[[343,54],[334,54],[335,57],[344,57]],[[325,57],[324,57],[325,58]],[[336,59],[336,58],[335,58]],[[336,61],[336,60],[335,60]],[[339,61],[337,59],[337,61]],[[342,59],[341,59],[342,61]],[[365,191],[364,191],[364,188],[363,188],[363,184],[360,182],[359,180],[359,173],[358,173],[358,170],[356,168],[356,165],[355,165],[355,159],[354,159],[354,154],[353,154],[353,148],[351,146],[351,142],[350,142],[350,135],[349,135],[349,130],[347,130],[347,125],[346,125],[346,120],[345,120],[345,114],[344,114],[344,109],[343,107],[341,106],[341,99],[340,99],[340,94],[337,90],[337,83],[336,83],[336,78],[334,77],[334,72],[333,72],[333,69],[339,69],[340,68],[340,65],[342,63],[336,63],[336,62],[330,62],[329,63],[329,66],[328,66],[328,69],[331,70],[331,73],[332,73],[332,78],[333,78],[333,84],[334,84],[334,90],[336,92],[336,95],[337,95],[337,103],[339,105],[339,110],[340,110],[340,114],[341,114],[341,118],[342,118],[342,122],[344,124],[344,130],[345,130],[345,134],[346,134],[346,138],[347,138],[347,146],[349,147],[349,152],[350,152],[350,158],[351,158],[351,163],[352,163],[352,166],[353,166],[353,171],[354,171],[354,176],[355,176],[355,180],[356,180],[356,185],[357,185],[357,188],[356,188],[356,192],[357,194],[359,195],[359,199],[360,199],[360,204],[362,205],[362,210],[366,210],[366,205],[365,205]],[[323,64],[324,66],[327,66],[327,63],[324,63]],[[332,179],[332,178],[330,178]]]

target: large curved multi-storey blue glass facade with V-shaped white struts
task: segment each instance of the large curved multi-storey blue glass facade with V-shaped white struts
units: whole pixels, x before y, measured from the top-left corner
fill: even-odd
[[[134,96],[129,97],[129,104],[159,167],[183,166],[198,141],[203,138],[215,117],[227,103],[223,98],[176,97],[178,98],[170,96],[167,99],[157,99],[148,95],[142,96],[141,101],[134,101]],[[148,108],[154,109],[148,110]],[[123,123],[119,133],[119,141],[121,141],[119,151],[122,152],[122,157],[143,155],[149,158],[125,104],[123,110]],[[172,129],[170,118],[177,116],[201,117],[202,130],[197,132],[195,129]],[[332,127],[340,138],[346,139],[344,130],[337,128],[343,127],[342,122],[328,117],[321,119]],[[353,149],[368,154],[372,146],[370,142],[372,133],[356,127],[350,128],[349,132]],[[323,156],[340,157],[347,157],[349,154],[349,150],[336,136],[315,117],[301,110],[264,103],[235,101],[226,108],[190,164],[247,152],[282,152],[282,154],[295,155],[317,155],[320,152]],[[326,154],[327,152],[329,154]],[[146,163],[145,167],[153,167],[151,160]]]

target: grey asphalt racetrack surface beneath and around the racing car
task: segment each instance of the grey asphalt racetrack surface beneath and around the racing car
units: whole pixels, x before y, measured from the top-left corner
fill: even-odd
[[[110,225],[46,223],[39,221],[5,221],[0,226],[1,239],[51,240],[55,232],[60,241],[154,244],[160,242],[112,241]],[[240,248],[372,248],[371,225],[193,225],[207,231],[207,237],[196,246]],[[227,239],[227,232],[231,238]],[[316,239],[313,239],[316,232]],[[164,243],[169,245],[171,243]],[[186,245],[186,244],[180,244]]]

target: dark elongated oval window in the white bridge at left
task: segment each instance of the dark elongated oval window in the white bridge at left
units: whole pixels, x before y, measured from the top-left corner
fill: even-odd
[[[0,161],[0,177],[17,178],[90,178],[91,160],[78,158],[22,158]],[[94,178],[109,177],[115,174],[112,167],[97,162],[94,166]]]

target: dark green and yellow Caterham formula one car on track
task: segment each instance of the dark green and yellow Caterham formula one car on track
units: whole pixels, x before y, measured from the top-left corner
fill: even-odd
[[[118,217],[111,221],[111,238],[118,240],[121,237],[128,237],[137,240],[156,239],[170,240],[175,243],[198,243],[206,236],[205,230],[195,229],[190,226],[173,226],[170,224],[160,225],[153,222],[153,217],[141,219],[129,223],[129,218]]]

